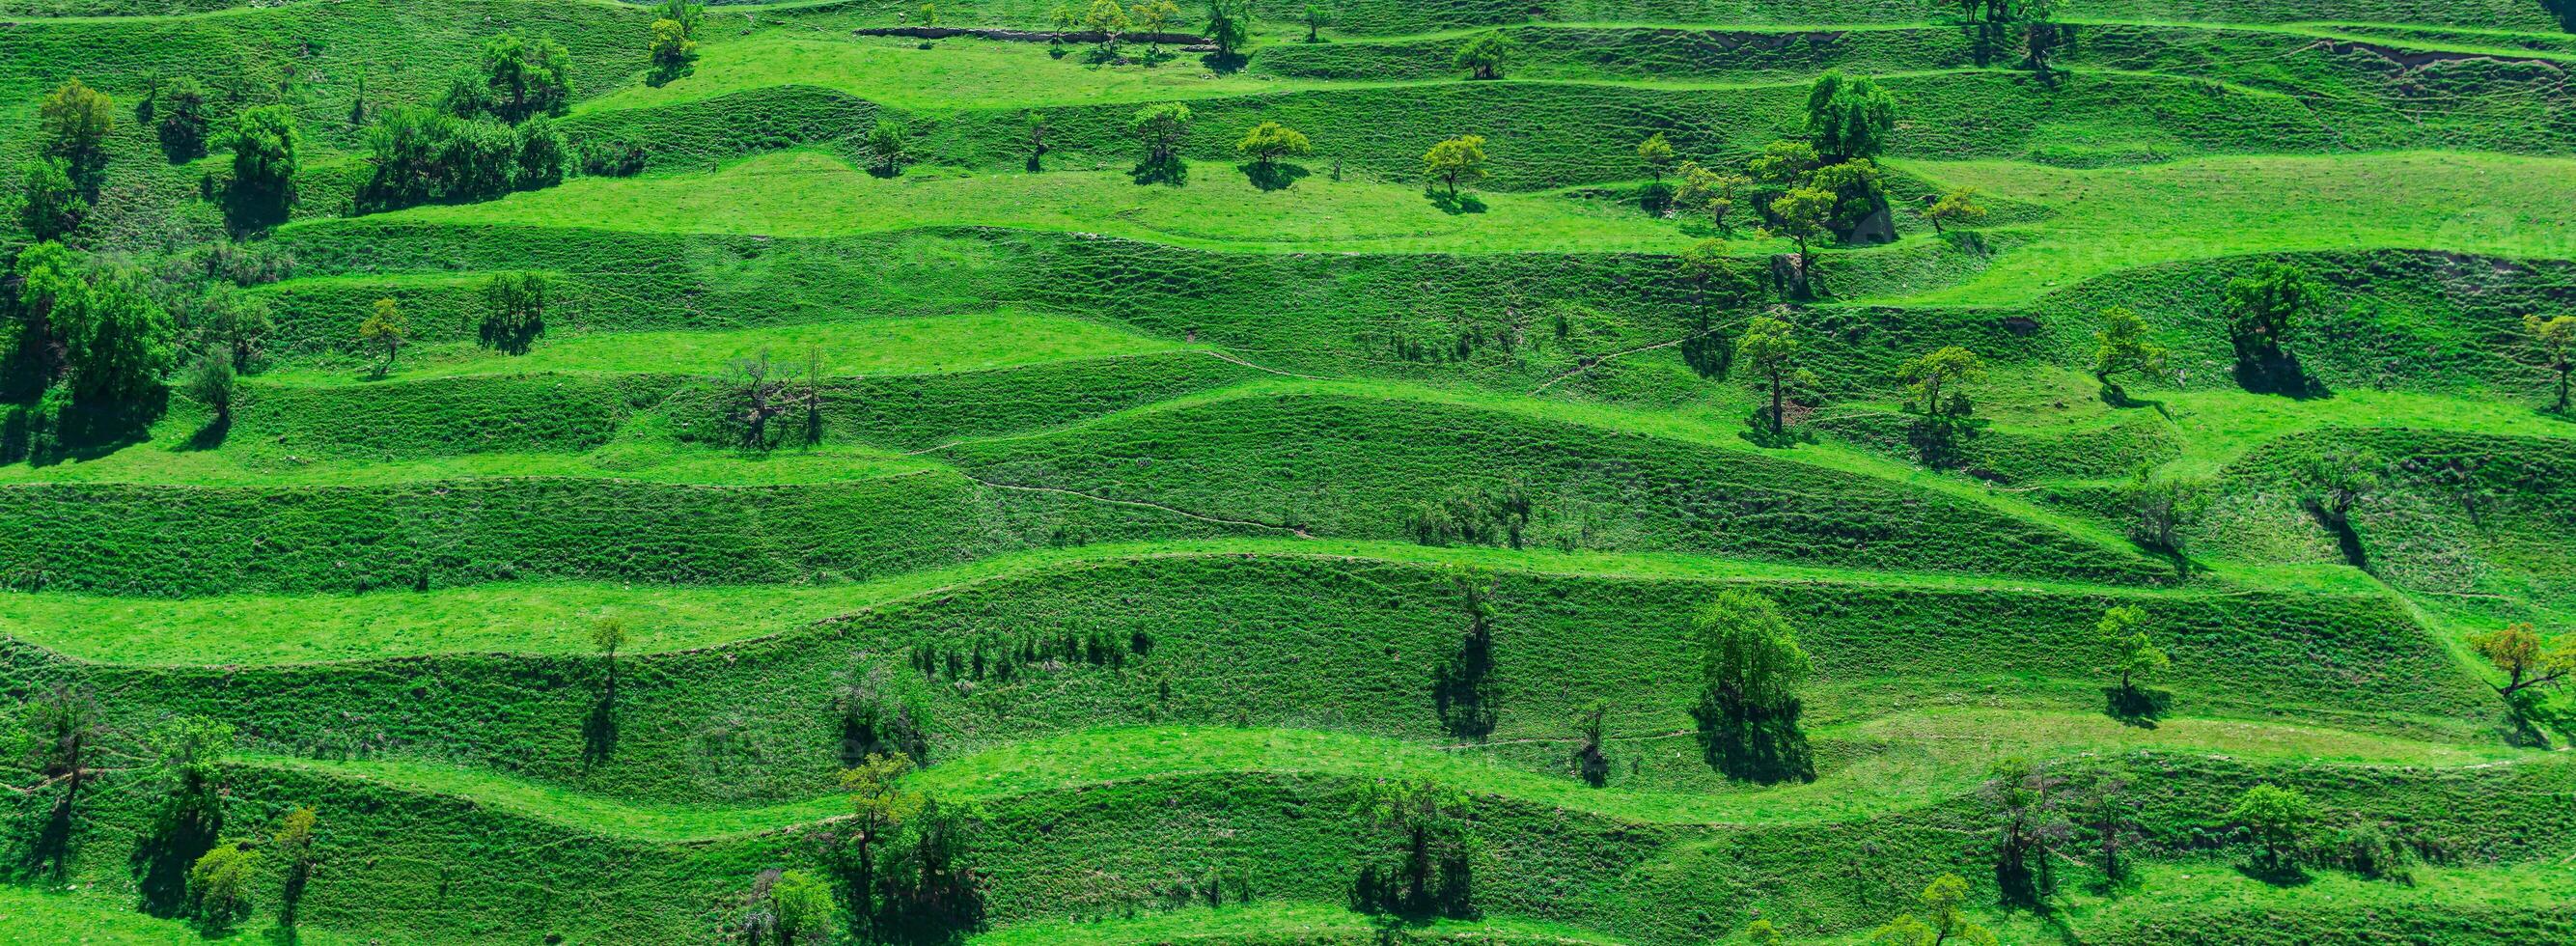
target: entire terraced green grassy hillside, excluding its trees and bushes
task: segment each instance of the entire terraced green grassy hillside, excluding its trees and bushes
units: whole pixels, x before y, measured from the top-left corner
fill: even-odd
[[[322,10],[350,18],[314,21]],[[987,23],[1025,23],[1033,13],[1015,3],[951,10]],[[1893,5],[1553,13],[1641,23],[1919,15]],[[2076,8],[2089,13],[2099,10]],[[2218,23],[2285,15],[2244,3],[2117,13]],[[134,82],[131,62],[258,59],[283,49],[281,36],[340,36],[381,15],[296,5],[46,23],[39,36],[49,52],[39,59],[72,62],[85,57],[72,52],[82,44],[126,49],[106,57],[121,67],[100,72],[121,88]],[[2553,217],[2566,204],[2550,183],[2563,178],[2561,162],[2406,152],[2053,168],[2424,144],[2561,152],[2548,106],[2524,103],[2545,98],[2517,85],[2530,64],[2463,59],[2391,75],[2370,62],[2375,52],[2298,52],[2347,34],[2468,54],[2527,39],[2087,26],[2087,72],[2050,93],[2002,72],[1945,72],[1958,64],[1940,57],[1955,59],[1958,49],[1942,28],[1857,34],[1852,46],[1795,67],[1759,54],[1710,59],[1710,72],[1682,82],[1605,82],[1649,72],[1641,64],[1672,49],[1659,46],[1669,44],[1656,39],[1664,34],[1571,31],[1574,44],[1602,41],[1597,70],[1540,49],[1530,75],[1558,82],[1386,85],[1414,80],[1458,36],[1280,46],[1255,72],[1216,77],[1188,62],[1157,72],[1082,67],[1043,59],[1041,46],[945,41],[917,52],[824,39],[824,28],[889,18],[884,8],[845,5],[801,13],[793,28],[811,36],[719,39],[698,77],[644,90],[623,85],[631,64],[618,59],[634,15],[572,5],[549,23],[582,34],[582,85],[608,90],[577,121],[688,129],[657,155],[672,160],[662,168],[829,142],[873,121],[873,106],[858,101],[873,98],[917,113],[925,155],[984,173],[925,168],[878,180],[848,170],[827,147],[716,175],[587,180],[489,206],[289,227],[281,242],[314,278],[270,289],[294,348],[281,345],[283,369],[250,387],[224,446],[178,449],[201,423],[183,407],[149,446],[8,472],[64,482],[13,487],[15,521],[103,536],[21,536],[13,585],[191,595],[57,590],[0,601],[8,634],[106,660],[62,662],[13,644],[0,655],[13,686],[80,675],[111,691],[129,722],[216,711],[242,722],[260,750],[381,755],[278,760],[240,776],[240,822],[325,799],[332,817],[366,812],[340,822],[345,843],[389,853],[386,864],[348,864],[348,887],[314,905],[319,925],[404,941],[567,925],[582,941],[703,933],[708,902],[737,897],[762,866],[806,858],[765,827],[837,809],[837,799],[817,796],[835,768],[819,748],[848,740],[835,699],[860,681],[927,709],[938,766],[922,784],[989,804],[984,864],[1005,938],[1363,936],[1347,918],[1293,905],[1329,902],[1347,887],[1352,838],[1340,794],[1396,771],[1494,791],[1489,830],[1507,838],[1510,858],[1479,866],[1479,882],[1515,941],[1587,931],[1695,941],[1731,931],[1749,907],[1801,931],[1850,936],[1878,920],[1878,905],[1919,887],[1922,876],[1909,874],[1917,866],[1978,866],[1965,838],[1986,825],[1965,796],[1989,758],[2141,748],[2159,753],[2146,807],[2159,833],[2154,851],[2169,861],[2154,866],[2146,897],[2069,900],[2089,941],[2172,941],[2192,923],[2326,941],[2349,925],[2339,902],[2370,902],[2375,923],[2429,941],[2555,931],[2532,905],[2563,900],[2563,884],[2519,866],[2442,869],[2411,894],[2342,876],[2282,892],[2244,884],[2215,856],[2192,851],[2213,843],[2202,830],[2226,794],[2285,778],[2318,791],[2334,820],[2398,820],[2455,843],[2473,864],[2563,856],[2530,843],[2563,835],[2563,812],[2512,799],[2563,796],[2566,766],[2494,748],[2491,701],[2450,650],[2460,632],[2519,613],[2514,606],[2548,613],[2566,580],[2563,559],[2550,554],[2566,534],[2548,513],[2555,492],[2532,490],[2576,469],[2561,456],[2563,425],[2486,397],[2527,402],[2530,371],[2514,366],[2496,325],[2553,299],[2558,273],[2543,263],[2370,253],[2568,255]],[[1355,31],[1396,34],[1510,23],[1520,10],[1352,5],[1347,15]],[[2419,10],[2354,0],[2295,15],[2548,26],[2530,5]],[[309,121],[345,108],[348,49],[384,62],[453,59],[479,28],[459,23],[438,10],[381,39],[322,41],[304,54],[309,85],[296,101]],[[116,41],[137,28],[155,39]],[[1878,52],[1860,49],[1870,41]],[[2280,54],[2280,64],[2221,62],[2251,52]],[[1649,348],[1695,333],[1692,314],[1664,278],[1669,263],[1623,253],[1677,247],[1692,237],[1682,227],[1595,193],[1497,193],[1484,214],[1450,217],[1412,186],[1368,180],[1401,180],[1427,134],[1481,121],[1528,131],[1502,137],[1512,152],[1499,155],[1499,186],[1522,191],[1633,175],[1628,142],[1664,119],[1692,155],[1741,152],[1775,131],[1803,72],[1865,54],[1909,64],[1893,72],[1932,70],[1893,80],[1914,106],[1904,170],[2027,204],[1989,235],[1994,253],[1911,240],[1834,255],[1826,281],[1842,296],[1904,304],[1808,314],[1816,363],[1837,371],[1850,394],[1837,410],[1852,425],[1834,428],[1857,441],[1850,446],[1806,446],[1780,454],[1785,461],[1752,451],[1731,438],[1747,405],[1739,384],[1708,384],[1687,348]],[[428,72],[376,77],[371,88],[435,85]],[[781,88],[814,72],[858,77],[824,80],[832,93]],[[5,82],[49,77],[0,72]],[[2411,90],[2391,93],[2398,85]],[[1018,162],[1020,106],[1059,106],[1059,162],[1115,165],[1118,121],[1146,98],[1203,106],[1193,144],[1200,165],[1188,186],[1136,188],[1115,170],[1007,170]],[[2458,101],[2476,108],[2434,111]],[[1252,191],[1224,168],[1224,147],[1255,116],[1316,131],[1324,155],[1350,157],[1352,178],[1314,173],[1288,191]],[[2434,121],[2416,126],[2427,116]],[[2496,129],[2548,134],[2514,139]],[[340,131],[319,139],[345,144]],[[319,157],[330,165],[330,155]],[[178,168],[155,175],[155,186],[183,183]],[[126,201],[147,204],[144,191]],[[484,227],[492,222],[510,227]],[[891,232],[948,224],[1030,232]],[[1558,255],[1566,250],[1584,255]],[[1739,247],[1744,263],[1767,250],[1775,245]],[[2159,330],[2205,366],[2210,281],[2244,253],[2290,250],[2334,250],[2308,260],[2329,271],[2339,302],[2372,304],[2329,317],[2324,340],[2303,348],[2344,397],[2285,405],[2187,389],[2159,394],[2174,418],[2164,423],[2097,410],[2084,402],[2087,384],[2063,371],[2081,358],[2089,312],[2110,299],[2159,302]],[[474,276],[528,265],[569,289],[538,353],[500,358],[459,343],[471,327],[464,314]],[[2476,273],[2424,276],[2442,265]],[[420,304],[438,343],[417,351],[397,381],[361,384],[353,361],[330,348],[379,294]],[[2007,330],[2004,312],[2038,312],[2040,330]],[[1551,322],[1553,340],[1543,340]],[[1535,327],[1540,343],[1497,353],[1497,325]],[[1870,441],[1878,428],[1865,418],[1886,407],[1888,366],[1942,340],[2056,366],[1978,389],[1981,410],[1999,418],[1984,449],[2009,479],[2040,485],[2056,505],[1875,454],[1886,443]],[[814,343],[842,374],[832,402],[858,415],[835,412],[824,449],[755,464],[688,430],[708,418],[690,402],[688,374]],[[1244,384],[1260,371],[1177,348],[1355,379]],[[1432,356],[1399,356],[1422,348]],[[1646,353],[1600,361],[1638,348]],[[2391,376],[2393,363],[2424,369]],[[2331,562],[2331,544],[2318,546],[2318,531],[2280,500],[2280,477],[2339,438],[2403,459],[2486,459],[2504,500],[2481,516],[2445,508],[2434,485],[2403,482],[2365,503],[2357,521],[2391,585],[2514,606],[2416,613],[2352,572],[2264,567]],[[927,454],[904,456],[912,451]],[[1492,456],[1517,461],[1497,469]],[[2017,577],[2143,577],[2138,557],[2110,539],[2117,523],[2092,518],[2102,508],[2094,490],[2136,461],[2215,472],[2239,492],[2228,518],[2210,526],[2223,536],[2205,544],[2218,577],[2179,590]],[[1296,541],[1260,526],[974,487],[956,469],[1376,539],[1399,539],[1394,521],[1437,487],[1517,472],[1548,487],[1548,539],[1602,552]],[[559,479],[520,479],[531,474]],[[1878,505],[1852,500],[1878,492]],[[1868,531],[1899,518],[1924,526]],[[1692,523],[1721,528],[1692,539]],[[1633,554],[1716,541],[1723,552],[1801,559],[1816,544],[1783,541],[1819,528],[1860,539],[1842,549],[1850,562],[1837,562],[1904,572]],[[1224,531],[1265,539],[1170,544]],[[1164,544],[1115,544],[1128,539]],[[940,570],[969,557],[987,559]],[[1481,758],[1430,748],[1453,737],[1425,699],[1427,665],[1455,642],[1455,567],[1466,565],[1502,572],[1504,724]],[[1994,577],[1927,575],[1960,570]],[[523,583],[531,577],[538,583]],[[811,585],[744,585],[778,580]],[[1674,670],[1692,655],[1669,629],[1716,580],[1780,595],[1819,655],[1819,784],[1726,786],[1692,750],[1680,714],[1690,673]],[[461,583],[489,585],[453,588]],[[384,590],[404,585],[430,590]],[[345,595],[350,588],[379,590]],[[296,595],[304,590],[330,595]],[[2172,686],[2182,709],[2159,729],[2092,714],[2099,673],[2087,624],[2110,601],[2148,603],[2166,621],[2159,629],[2179,662],[2156,683]],[[580,624],[598,613],[644,621],[639,655],[618,670],[621,696],[605,704],[587,696],[603,668],[577,642]],[[1605,621],[1615,634],[1602,632]],[[987,670],[994,652],[1007,662],[1018,644],[1059,642],[1064,668]],[[1118,657],[1103,660],[1100,642]],[[1077,657],[1084,644],[1090,660]],[[896,655],[927,655],[933,668],[902,670]],[[204,668],[216,662],[229,668]],[[1592,791],[1564,778],[1564,719],[1605,693],[1620,701],[1613,755],[1633,768]],[[613,722],[608,745],[600,714]],[[1280,729],[1208,727],[1231,714]],[[2478,768],[2496,760],[2512,766]],[[100,802],[100,838],[131,833],[147,807],[131,786],[118,791]],[[1886,817],[1852,822],[1855,812]],[[708,835],[732,840],[688,843]],[[103,840],[90,856],[124,861],[116,848]],[[526,874],[471,869],[495,851],[528,858]],[[1211,871],[1257,876],[1270,905],[1133,928],[1025,925],[1133,915]],[[118,874],[106,869],[93,882],[126,884]],[[44,915],[52,923],[67,910]],[[116,920],[64,923],[93,931]]]

